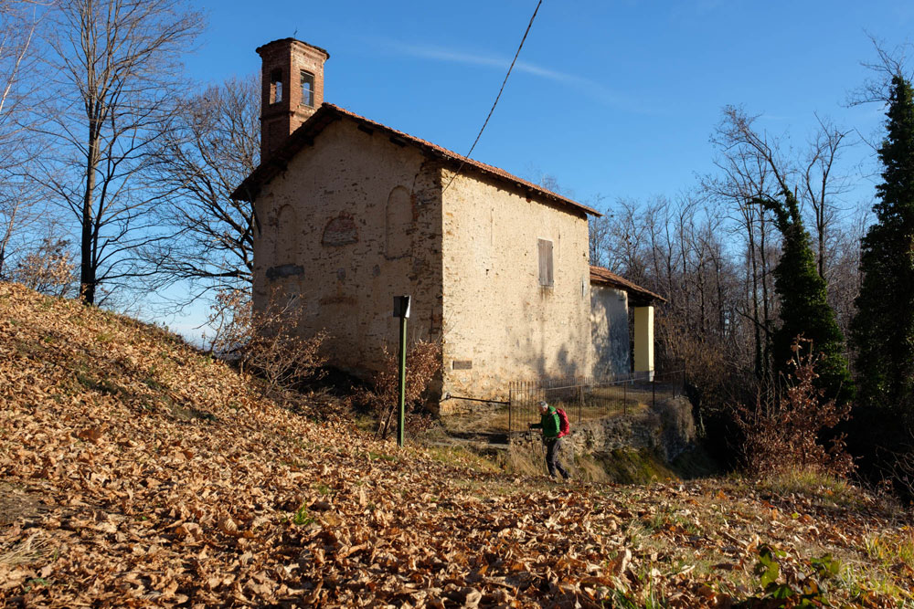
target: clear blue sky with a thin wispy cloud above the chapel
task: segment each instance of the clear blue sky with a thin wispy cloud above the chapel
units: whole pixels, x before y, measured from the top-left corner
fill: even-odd
[[[256,47],[295,36],[330,52],[324,100],[463,153],[536,4],[227,0],[202,5],[209,27],[186,67],[202,82],[251,74]],[[813,112],[871,135],[883,109],[845,106],[876,57],[867,33],[891,48],[912,25],[909,0],[545,0],[473,157],[551,174],[583,202],[674,195],[712,171],[726,104],[798,146]],[[871,195],[863,182],[847,197]]]

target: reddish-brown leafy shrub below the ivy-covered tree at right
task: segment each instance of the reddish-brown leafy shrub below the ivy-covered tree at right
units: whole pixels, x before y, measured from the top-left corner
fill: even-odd
[[[828,449],[816,441],[822,430],[850,419],[850,404],[825,401],[823,392],[815,387],[817,361],[812,342],[797,339],[790,362],[792,374],[780,394],[770,394],[767,399],[760,395],[755,408],[737,407],[735,418],[745,436],[743,457],[750,471],[813,469],[846,476],[854,470],[844,436],[834,438]]]

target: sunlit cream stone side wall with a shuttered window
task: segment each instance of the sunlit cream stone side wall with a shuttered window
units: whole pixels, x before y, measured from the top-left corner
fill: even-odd
[[[443,382],[452,395],[505,399],[512,380],[590,373],[587,217],[529,196],[478,173],[462,173],[443,195]],[[551,288],[540,285],[539,239],[552,242]]]

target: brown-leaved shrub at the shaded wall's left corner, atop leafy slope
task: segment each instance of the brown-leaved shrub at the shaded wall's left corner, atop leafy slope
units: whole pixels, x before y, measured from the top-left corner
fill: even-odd
[[[274,294],[265,310],[255,311],[246,290],[222,290],[209,317],[216,330],[211,349],[237,358],[242,372],[260,374],[264,394],[308,380],[326,362],[320,350],[327,334],[304,337],[297,306],[297,297]]]

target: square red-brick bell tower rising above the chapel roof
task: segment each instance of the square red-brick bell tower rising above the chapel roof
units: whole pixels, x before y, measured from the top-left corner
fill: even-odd
[[[321,47],[295,38],[273,40],[257,48],[260,55],[260,163],[307,121],[324,103]]]

